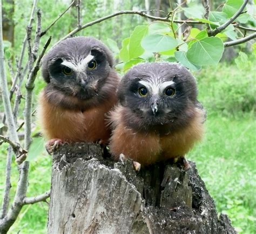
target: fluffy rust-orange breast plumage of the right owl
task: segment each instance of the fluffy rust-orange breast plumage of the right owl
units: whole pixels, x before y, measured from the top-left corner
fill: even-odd
[[[204,112],[198,108],[187,127],[168,135],[134,132],[124,125],[122,111],[122,106],[118,106],[111,113],[114,130],[110,139],[110,151],[116,159],[124,154],[147,165],[184,156],[203,137]]]

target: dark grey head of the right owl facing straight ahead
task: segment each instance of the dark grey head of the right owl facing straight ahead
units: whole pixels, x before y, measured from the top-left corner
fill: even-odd
[[[118,88],[127,126],[138,131],[169,133],[185,127],[197,105],[192,74],[176,63],[144,63],[132,67]]]

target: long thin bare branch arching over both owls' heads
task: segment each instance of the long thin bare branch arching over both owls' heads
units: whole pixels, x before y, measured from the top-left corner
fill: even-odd
[[[170,22],[171,20],[169,19],[169,17],[154,17],[151,15],[147,15],[146,13],[144,13],[144,11],[118,11],[116,13],[113,13],[111,15],[108,16],[104,16],[102,18],[93,20],[89,23],[86,23],[84,25],[82,25],[80,28],[76,28],[73,31],[71,31],[68,35],[66,35],[65,37],[63,37],[62,39],[60,39],[56,44],[60,43],[62,40],[65,40],[66,38],[72,37],[73,35],[75,35],[77,32],[85,29],[86,27],[90,27],[92,25],[98,24],[100,22],[103,22],[104,20],[119,16],[119,15],[139,15],[148,19],[154,19],[154,20],[159,20],[159,21],[164,21],[164,22]],[[173,20],[173,23],[184,23],[186,20]],[[197,21],[197,20],[187,20],[186,21],[187,24],[204,24],[204,22],[201,21]],[[55,44],[55,45],[56,45]]]

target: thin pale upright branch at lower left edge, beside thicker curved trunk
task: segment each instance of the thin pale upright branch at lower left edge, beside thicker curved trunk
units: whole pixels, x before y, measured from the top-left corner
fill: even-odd
[[[2,202],[2,211],[0,218],[4,218],[9,206],[9,194],[11,189],[11,159],[12,148],[9,146],[7,151],[6,167],[5,167],[5,183],[4,183],[4,196]]]

